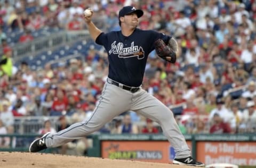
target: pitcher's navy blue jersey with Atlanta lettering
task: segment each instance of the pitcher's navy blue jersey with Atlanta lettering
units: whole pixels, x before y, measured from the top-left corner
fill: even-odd
[[[131,87],[139,87],[143,80],[148,54],[155,49],[154,42],[171,38],[154,30],[135,29],[126,37],[121,31],[101,33],[95,42],[108,52],[108,77]]]

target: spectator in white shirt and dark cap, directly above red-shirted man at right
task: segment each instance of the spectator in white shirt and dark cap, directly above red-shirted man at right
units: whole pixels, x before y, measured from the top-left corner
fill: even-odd
[[[230,122],[232,118],[232,113],[227,109],[224,101],[222,100],[221,97],[217,97],[216,99],[216,108],[214,108],[210,115],[209,115],[209,120],[213,119],[214,114],[218,114],[224,122]]]

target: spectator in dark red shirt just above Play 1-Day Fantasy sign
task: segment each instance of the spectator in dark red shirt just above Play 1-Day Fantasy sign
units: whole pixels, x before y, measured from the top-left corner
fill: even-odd
[[[223,122],[220,115],[215,113],[213,115],[213,125],[210,128],[210,133],[231,133],[231,128],[229,123]]]

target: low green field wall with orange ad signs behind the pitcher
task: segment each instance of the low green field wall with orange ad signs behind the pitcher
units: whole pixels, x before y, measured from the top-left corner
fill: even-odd
[[[39,135],[0,135],[10,137],[9,148],[0,148],[0,151],[28,151],[31,141]],[[16,138],[16,146],[13,146]],[[21,144],[18,139],[23,138]],[[172,163],[175,152],[166,137],[157,135],[111,135],[93,134],[92,148],[87,149],[87,156],[113,159],[132,159],[147,162]],[[185,135],[187,144],[193,157],[206,165],[213,163],[230,163],[236,165],[256,165],[256,135]],[[23,146],[20,146],[23,145]],[[44,153],[51,153],[45,150]]]

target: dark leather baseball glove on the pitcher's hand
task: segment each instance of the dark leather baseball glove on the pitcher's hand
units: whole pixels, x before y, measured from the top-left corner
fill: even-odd
[[[176,61],[176,53],[171,49],[169,45],[166,45],[162,39],[158,39],[154,43],[156,53],[163,60],[166,60],[171,63]],[[171,60],[167,60],[166,57],[171,57]]]

